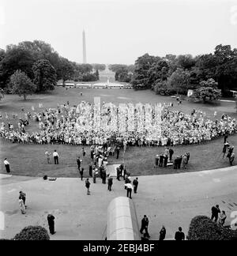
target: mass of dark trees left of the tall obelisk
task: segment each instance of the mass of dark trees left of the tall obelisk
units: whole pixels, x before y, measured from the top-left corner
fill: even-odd
[[[78,64],[58,55],[40,40],[10,44],[0,49],[0,88],[24,96],[55,88],[57,81],[98,81],[103,64]],[[1,92],[2,95],[2,92]],[[2,96],[0,97],[0,99]]]

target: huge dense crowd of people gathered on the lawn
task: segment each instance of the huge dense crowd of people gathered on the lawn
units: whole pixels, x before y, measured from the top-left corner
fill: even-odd
[[[91,111],[88,111],[91,110]],[[106,110],[106,111],[105,111]],[[49,108],[40,112],[24,113],[25,119],[20,119],[17,129],[11,123],[2,122],[0,137],[13,143],[36,144],[69,144],[69,145],[126,145],[137,146],[176,146],[200,144],[224,134],[234,134],[237,122],[228,115],[222,115],[220,120],[207,119],[202,111],[193,110],[190,115],[182,111],[171,111],[170,107],[163,107],[159,129],[147,129],[141,122],[139,115],[134,115],[133,131],[128,130],[129,123],[123,130],[119,130],[117,114],[111,115],[109,107],[101,111],[100,129],[96,129],[93,120],[93,106],[88,102],[81,102],[78,106],[70,107],[69,103],[57,108]],[[85,112],[87,115],[84,115]],[[112,111],[115,113],[115,111]],[[135,109],[136,114],[136,109]],[[110,118],[107,119],[107,115]],[[121,113],[120,113],[121,115]],[[127,115],[128,113],[124,113]],[[155,113],[152,112],[152,115]],[[153,116],[154,118],[154,116]],[[91,120],[88,122],[87,120]],[[106,120],[106,122],[105,122]],[[127,119],[128,120],[128,119]],[[38,122],[39,129],[27,132],[29,122]],[[128,122],[128,121],[127,121]],[[138,127],[139,126],[139,127]]]

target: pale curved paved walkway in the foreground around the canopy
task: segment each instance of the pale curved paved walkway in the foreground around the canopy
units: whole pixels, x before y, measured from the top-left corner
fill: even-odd
[[[2,175],[1,175],[2,177]],[[12,238],[26,225],[47,228],[47,213],[55,214],[56,234],[51,239],[101,239],[107,221],[107,205],[126,195],[123,182],[114,179],[112,191],[98,179],[86,195],[85,181],[58,178],[55,182],[41,178],[12,176],[0,179],[0,209],[5,216],[5,229],[0,237]],[[149,216],[149,232],[158,239],[161,225],[167,228],[167,239],[182,226],[187,234],[190,220],[196,215],[210,215],[212,205],[219,204],[227,213],[237,211],[237,167],[171,175],[140,176],[138,193],[133,194],[140,221]],[[18,193],[27,194],[27,214],[21,215]],[[101,199],[103,197],[103,200]],[[139,223],[140,224],[140,223]]]

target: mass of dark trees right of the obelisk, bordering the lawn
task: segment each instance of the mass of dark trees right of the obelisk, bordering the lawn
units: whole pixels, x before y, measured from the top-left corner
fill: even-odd
[[[154,90],[157,94],[186,95],[194,89],[195,96],[204,101],[231,96],[237,87],[237,49],[217,45],[214,53],[206,55],[166,55],[161,58],[149,54],[137,58],[131,83],[135,89]]]

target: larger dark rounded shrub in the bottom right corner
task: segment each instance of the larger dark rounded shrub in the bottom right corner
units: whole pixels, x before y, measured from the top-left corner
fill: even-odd
[[[195,216],[190,222],[188,240],[236,240],[237,232],[224,228],[208,216]]]

